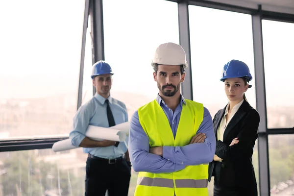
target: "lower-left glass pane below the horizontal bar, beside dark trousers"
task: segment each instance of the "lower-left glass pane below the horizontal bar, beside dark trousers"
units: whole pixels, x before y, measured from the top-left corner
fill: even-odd
[[[0,152],[1,196],[82,196],[87,154],[82,148]]]

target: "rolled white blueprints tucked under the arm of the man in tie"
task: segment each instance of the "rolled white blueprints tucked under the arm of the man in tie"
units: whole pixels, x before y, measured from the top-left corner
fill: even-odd
[[[112,127],[100,127],[89,125],[86,130],[86,136],[92,140],[111,140],[117,142],[123,142],[126,135],[129,133],[129,122],[117,124]],[[52,146],[54,152],[70,150],[78,148],[72,145],[71,139],[55,142]]]

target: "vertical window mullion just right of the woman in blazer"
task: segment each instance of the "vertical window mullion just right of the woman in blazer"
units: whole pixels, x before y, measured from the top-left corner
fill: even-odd
[[[267,134],[267,107],[260,12],[252,15],[256,108],[260,115],[258,137],[259,188],[260,196],[270,195],[269,143]]]

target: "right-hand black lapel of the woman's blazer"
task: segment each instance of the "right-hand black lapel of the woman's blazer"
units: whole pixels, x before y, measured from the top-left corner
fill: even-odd
[[[245,116],[246,110],[250,107],[249,103],[244,100],[238,111],[235,113],[231,121],[228,123],[227,127],[224,130],[223,133],[223,141],[225,141],[225,138],[227,135],[232,131],[233,127],[239,123],[239,121]]]

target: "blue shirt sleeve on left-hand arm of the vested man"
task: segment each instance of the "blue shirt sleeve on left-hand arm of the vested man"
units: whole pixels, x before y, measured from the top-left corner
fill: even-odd
[[[185,168],[162,156],[149,153],[149,138],[139,122],[136,111],[130,122],[129,156],[135,172],[176,172]]]

